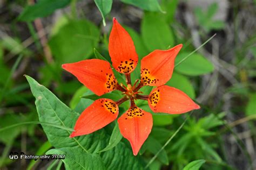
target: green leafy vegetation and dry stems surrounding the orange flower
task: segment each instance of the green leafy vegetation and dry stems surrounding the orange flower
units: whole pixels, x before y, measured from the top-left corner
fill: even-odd
[[[1,169],[256,168],[255,0],[1,0],[0,15]],[[65,137],[77,112],[97,96],[61,65],[90,58],[110,61],[113,17],[130,33],[140,59],[154,49],[184,45],[176,63],[186,60],[167,84],[201,106],[183,115],[153,114],[152,132],[137,157],[116,122],[79,137],[79,144]],[[133,82],[139,66],[134,72]],[[149,90],[144,88],[144,94]],[[50,103],[38,103],[42,94]],[[52,103],[65,127],[52,116]],[[150,111],[145,102],[137,104]],[[123,103],[120,113],[127,107]],[[11,151],[66,157],[10,160]]]

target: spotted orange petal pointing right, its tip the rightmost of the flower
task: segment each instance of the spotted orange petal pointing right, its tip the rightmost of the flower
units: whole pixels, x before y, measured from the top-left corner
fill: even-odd
[[[170,86],[160,86],[150,93],[149,106],[153,112],[167,114],[183,114],[185,112],[200,109],[183,91]]]

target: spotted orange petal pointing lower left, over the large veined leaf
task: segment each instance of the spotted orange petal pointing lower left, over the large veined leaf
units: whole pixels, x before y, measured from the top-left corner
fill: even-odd
[[[107,98],[100,98],[87,107],[77,119],[70,137],[89,134],[102,129],[118,116],[117,104]]]

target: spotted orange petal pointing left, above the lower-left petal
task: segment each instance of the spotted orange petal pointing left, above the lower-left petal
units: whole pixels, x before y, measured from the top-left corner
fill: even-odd
[[[74,63],[66,63],[62,68],[72,73],[87,88],[100,96],[109,91],[116,90],[118,82],[110,67],[104,60],[91,59]]]

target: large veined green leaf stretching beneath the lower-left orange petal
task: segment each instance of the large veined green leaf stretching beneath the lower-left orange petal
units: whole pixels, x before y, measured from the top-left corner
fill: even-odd
[[[64,103],[62,103],[50,90],[39,84],[30,76],[26,76],[33,96],[36,98],[36,107],[39,121],[54,123],[66,128],[73,128],[79,114]],[[91,101],[82,99],[81,101]],[[90,103],[84,103],[86,107]],[[85,108],[80,108],[83,111]],[[42,124],[46,136],[55,148],[76,147],[84,153],[97,153],[102,150],[109,141],[109,136],[104,129],[80,137],[69,138],[70,131],[55,128],[47,124]],[[120,157],[122,155],[122,157]],[[143,162],[139,157],[133,157],[131,148],[120,142],[112,150],[100,154],[107,169],[143,169]],[[129,161],[127,161],[129,159]]]

